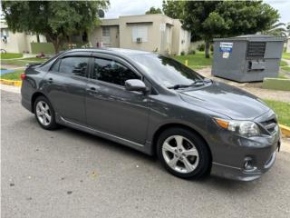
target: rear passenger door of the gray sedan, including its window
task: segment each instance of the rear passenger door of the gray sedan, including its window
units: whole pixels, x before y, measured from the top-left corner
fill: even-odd
[[[63,56],[45,75],[46,93],[55,112],[65,120],[85,124],[85,89],[88,83],[87,53]]]

